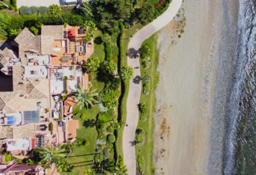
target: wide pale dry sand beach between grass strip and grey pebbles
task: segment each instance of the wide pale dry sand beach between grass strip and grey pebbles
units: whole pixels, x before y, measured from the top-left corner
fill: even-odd
[[[176,22],[160,30],[156,90],[156,174],[206,174],[217,59],[220,4],[186,1],[185,33]],[[214,15],[214,13],[216,13]]]

